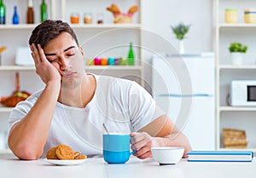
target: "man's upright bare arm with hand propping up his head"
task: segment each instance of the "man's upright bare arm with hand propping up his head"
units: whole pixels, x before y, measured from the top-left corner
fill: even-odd
[[[45,58],[43,49],[38,47],[39,50],[32,45],[32,57],[36,72],[46,87],[31,111],[19,123],[15,123],[9,132],[9,148],[20,159],[37,159],[44,152],[44,144],[61,89],[60,73]]]

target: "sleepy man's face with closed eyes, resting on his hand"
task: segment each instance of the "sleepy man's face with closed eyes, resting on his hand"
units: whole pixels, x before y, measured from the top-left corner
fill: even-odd
[[[44,47],[44,55],[61,74],[61,87],[73,89],[81,82],[84,72],[84,51],[73,37],[62,32]]]

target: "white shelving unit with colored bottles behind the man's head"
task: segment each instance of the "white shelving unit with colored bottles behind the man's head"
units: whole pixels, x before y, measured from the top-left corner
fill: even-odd
[[[2,54],[2,66],[0,66],[0,97],[10,95],[15,90],[15,72],[20,73],[20,89],[31,93],[42,89],[44,83],[35,74],[33,66],[15,66],[15,53],[18,47],[28,45],[28,39],[32,29],[38,25],[39,5],[41,0],[34,0],[35,23],[26,24],[27,3],[14,0],[4,1],[7,9],[6,25],[0,26],[0,46],[6,46],[7,50]],[[118,78],[127,78],[143,83],[143,56],[141,48],[142,36],[142,7],[139,0],[99,0],[96,2],[89,0],[46,0],[48,4],[49,19],[64,20],[70,23],[70,15],[78,13],[79,24],[71,25],[77,33],[79,43],[84,49],[86,59],[90,61],[95,57],[126,57],[128,55],[129,43],[132,42],[136,55],[135,66],[85,66],[86,72],[93,72],[98,75],[109,75]],[[137,5],[139,10],[133,16],[132,24],[113,24],[113,14],[107,11],[111,3],[119,5],[119,9],[127,12],[132,5]],[[61,6],[59,6],[61,4]],[[17,5],[20,16],[20,24],[12,25],[11,17],[13,8]],[[91,13],[92,24],[84,24],[84,13]],[[103,14],[103,24],[97,24],[97,14]],[[0,106],[0,133],[8,132],[7,118],[12,108]],[[0,150],[0,152],[6,152]]]

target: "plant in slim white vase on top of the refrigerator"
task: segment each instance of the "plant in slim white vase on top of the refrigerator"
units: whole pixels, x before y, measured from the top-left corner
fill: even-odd
[[[179,23],[177,26],[171,26],[172,32],[175,34],[179,42],[179,53],[184,54],[183,39],[185,35],[189,32],[190,25],[184,25],[183,22]]]

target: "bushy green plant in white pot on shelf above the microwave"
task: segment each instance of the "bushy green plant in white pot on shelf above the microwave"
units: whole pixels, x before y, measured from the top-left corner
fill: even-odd
[[[242,64],[242,56],[247,52],[247,45],[238,42],[230,43],[230,58],[233,65]]]

